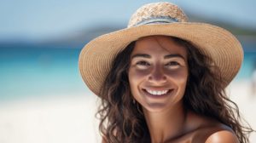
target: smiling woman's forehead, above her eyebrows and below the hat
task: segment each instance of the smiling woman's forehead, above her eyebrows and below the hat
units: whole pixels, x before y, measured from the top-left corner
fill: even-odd
[[[150,36],[137,40],[133,54],[182,54],[187,57],[187,50],[182,45],[174,42],[172,37]]]

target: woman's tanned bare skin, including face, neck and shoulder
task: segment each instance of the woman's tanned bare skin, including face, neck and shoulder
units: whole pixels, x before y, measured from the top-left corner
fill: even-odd
[[[187,51],[170,37],[138,40],[130,64],[131,94],[143,106],[153,143],[239,142],[228,126],[184,108],[189,77]]]

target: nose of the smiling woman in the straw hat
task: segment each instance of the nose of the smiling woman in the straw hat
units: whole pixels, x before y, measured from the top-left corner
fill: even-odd
[[[150,74],[148,75],[148,81],[151,83],[166,83],[166,74],[159,66],[154,67]]]

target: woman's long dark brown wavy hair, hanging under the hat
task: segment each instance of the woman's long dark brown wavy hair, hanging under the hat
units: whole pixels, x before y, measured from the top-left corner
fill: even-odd
[[[189,79],[183,96],[185,108],[224,123],[234,130],[241,143],[247,143],[248,134],[253,129],[241,125],[238,106],[225,94],[226,83],[218,67],[193,44],[177,37],[170,38],[188,53]],[[135,43],[117,54],[99,94],[102,104],[96,115],[100,119],[103,140],[109,143],[150,142],[142,106],[132,98],[127,74]]]

